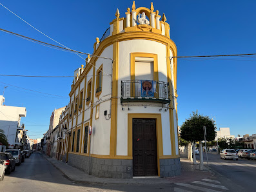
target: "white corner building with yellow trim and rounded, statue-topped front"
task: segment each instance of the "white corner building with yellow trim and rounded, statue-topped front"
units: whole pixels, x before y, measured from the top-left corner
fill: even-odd
[[[117,10],[75,70],[61,158],[98,177],[180,175],[170,26],[153,3],[136,8],[133,1],[125,15]]]

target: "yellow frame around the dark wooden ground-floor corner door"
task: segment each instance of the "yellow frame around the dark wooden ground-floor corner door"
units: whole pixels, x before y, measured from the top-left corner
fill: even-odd
[[[159,157],[163,155],[162,149],[162,119],[159,113],[128,113],[128,157],[133,158],[132,149],[132,119],[155,119],[155,129],[157,136],[157,173],[160,176]]]

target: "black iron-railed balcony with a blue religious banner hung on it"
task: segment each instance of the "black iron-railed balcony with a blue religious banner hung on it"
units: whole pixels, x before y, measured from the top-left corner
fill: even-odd
[[[121,102],[160,102],[169,104],[168,82],[151,80],[121,81]]]

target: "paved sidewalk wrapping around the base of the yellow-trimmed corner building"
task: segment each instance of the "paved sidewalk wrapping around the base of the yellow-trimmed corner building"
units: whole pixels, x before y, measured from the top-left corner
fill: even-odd
[[[83,184],[173,184],[176,182],[191,182],[213,176],[213,173],[208,172],[207,169],[200,171],[199,165],[193,165],[188,159],[181,157],[181,175],[177,177],[101,178],[88,175],[84,171],[69,166],[55,158],[40,154],[55,168],[59,169],[68,180]]]

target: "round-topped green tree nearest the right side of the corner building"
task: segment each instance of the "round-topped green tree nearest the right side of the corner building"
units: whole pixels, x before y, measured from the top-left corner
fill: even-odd
[[[200,115],[197,112],[193,112],[189,119],[181,125],[181,138],[184,140],[195,142],[199,141],[200,147],[200,168],[202,169],[202,140],[204,140],[203,126],[206,126],[206,140],[212,141],[215,139],[216,131],[214,121],[206,115]],[[194,148],[194,146],[193,146]],[[195,154],[195,153],[194,153]],[[195,155],[194,155],[195,158]]]

